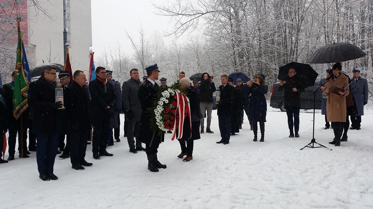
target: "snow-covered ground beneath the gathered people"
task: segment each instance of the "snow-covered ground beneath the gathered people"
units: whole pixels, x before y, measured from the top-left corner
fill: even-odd
[[[328,144],[333,130],[323,129],[317,110],[316,142],[332,151],[300,151],[312,139],[311,110],[301,110],[300,138],[288,138],[286,113],[269,107],[265,142],[253,142],[245,119],[229,145],[215,143],[220,134],[214,110],[215,133],[194,141],[191,161],[177,158],[179,142],[166,134],[158,158],[167,169],[158,173],[147,170],[145,152],[129,152],[123,133],[107,149],[113,157],[94,160],[88,145],[93,166],[85,170],[56,157],[57,181],[39,179],[32,152],[0,165],[0,209],[372,209],[373,109],[362,120],[361,130],[349,130],[348,142],[334,147]]]

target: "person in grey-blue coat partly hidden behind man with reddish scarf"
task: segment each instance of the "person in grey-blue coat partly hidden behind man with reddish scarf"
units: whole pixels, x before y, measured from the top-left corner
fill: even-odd
[[[122,108],[122,90],[120,90],[120,84],[118,81],[112,79],[113,76],[113,71],[111,70],[106,70],[106,79],[107,79],[107,82],[110,82],[112,85],[113,85],[113,88],[114,88],[114,92],[115,92],[115,95],[116,95],[116,103],[115,103],[115,106],[113,107],[112,111],[114,113],[114,116],[110,119],[110,138],[109,138],[109,142],[108,142],[108,145],[111,146],[111,145],[114,145],[114,139],[116,140],[116,142],[120,142],[120,139],[119,139],[119,124],[120,124],[120,119],[119,119],[119,112],[120,112],[120,109]],[[114,129],[114,131],[112,131],[112,129]],[[113,134],[114,133],[114,138],[113,138]]]

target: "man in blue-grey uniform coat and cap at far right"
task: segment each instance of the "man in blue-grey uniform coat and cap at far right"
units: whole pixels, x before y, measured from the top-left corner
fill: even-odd
[[[360,130],[362,115],[364,115],[364,105],[368,104],[368,82],[360,76],[360,70],[352,70],[353,79],[351,81],[352,95],[355,99],[358,114],[351,115],[351,128]]]

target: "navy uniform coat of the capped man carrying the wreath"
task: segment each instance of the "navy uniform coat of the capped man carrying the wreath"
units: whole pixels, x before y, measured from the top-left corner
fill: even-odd
[[[153,85],[148,79],[146,79],[140,86],[137,97],[141,104],[141,118],[140,118],[140,133],[139,138],[142,143],[149,144],[153,138],[153,143],[160,143],[165,138],[163,131],[153,132],[150,130],[150,112],[149,108],[152,106],[155,96],[157,94],[157,88],[160,86],[155,83]]]

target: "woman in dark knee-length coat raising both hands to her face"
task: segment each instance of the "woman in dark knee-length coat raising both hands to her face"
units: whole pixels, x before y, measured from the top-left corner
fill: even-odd
[[[264,142],[264,122],[266,121],[267,115],[267,102],[266,94],[268,92],[268,86],[264,81],[265,76],[263,74],[258,74],[253,80],[249,82],[248,94],[251,94],[250,104],[249,104],[249,115],[250,120],[253,123],[254,131],[254,142],[258,140],[258,123],[260,125],[260,132],[262,137],[261,142]]]

